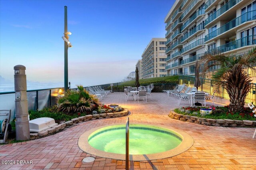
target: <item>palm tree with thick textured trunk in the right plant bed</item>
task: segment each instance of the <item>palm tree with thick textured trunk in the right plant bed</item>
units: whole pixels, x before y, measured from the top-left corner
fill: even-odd
[[[206,53],[201,60],[202,72],[208,72],[212,66],[220,66],[213,73],[214,84],[217,89],[224,88],[230,98],[229,112],[241,112],[245,98],[250,91],[251,77],[246,68],[256,72],[256,47],[242,56],[223,55],[222,53]],[[203,64],[208,63],[208,64]]]

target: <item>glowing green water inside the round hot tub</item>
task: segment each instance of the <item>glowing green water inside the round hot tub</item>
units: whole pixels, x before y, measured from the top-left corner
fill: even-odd
[[[125,127],[110,126],[88,137],[88,143],[98,150],[125,154]],[[155,126],[130,125],[129,154],[154,154],[174,149],[182,142],[177,133]]]

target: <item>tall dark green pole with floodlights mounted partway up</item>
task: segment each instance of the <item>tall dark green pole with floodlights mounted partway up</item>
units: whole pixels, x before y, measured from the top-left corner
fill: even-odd
[[[68,47],[72,47],[71,43],[68,40],[68,35],[71,35],[71,32],[68,32],[68,10],[67,6],[64,6],[64,90],[68,90]]]

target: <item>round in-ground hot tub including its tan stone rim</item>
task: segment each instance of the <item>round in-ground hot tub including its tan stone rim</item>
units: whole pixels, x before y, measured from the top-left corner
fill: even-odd
[[[96,156],[125,160],[126,127],[98,127],[81,135],[78,146]],[[171,157],[188,150],[194,143],[188,134],[168,127],[130,124],[130,160],[152,160]]]

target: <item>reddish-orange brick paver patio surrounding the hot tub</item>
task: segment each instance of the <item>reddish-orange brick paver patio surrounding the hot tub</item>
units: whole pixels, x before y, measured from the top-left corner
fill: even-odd
[[[165,125],[185,131],[194,138],[194,145],[177,156],[142,162],[130,162],[131,169],[159,170],[214,170],[252,169],[256,170],[256,139],[252,139],[254,128],[208,127],[168,117],[171,109],[187,106],[188,102],[167,97],[164,93],[152,93],[152,100],[138,103],[128,99],[124,93],[112,93],[102,100],[104,104],[119,104],[129,109],[130,123]],[[208,106],[212,105],[207,102]],[[0,145],[0,160],[32,160],[33,164],[2,165],[5,169],[124,169],[125,161],[96,157],[94,162],[82,163],[91,156],[78,148],[78,138],[88,129],[125,123],[126,117],[97,119],[82,122],[55,135],[33,141]]]

